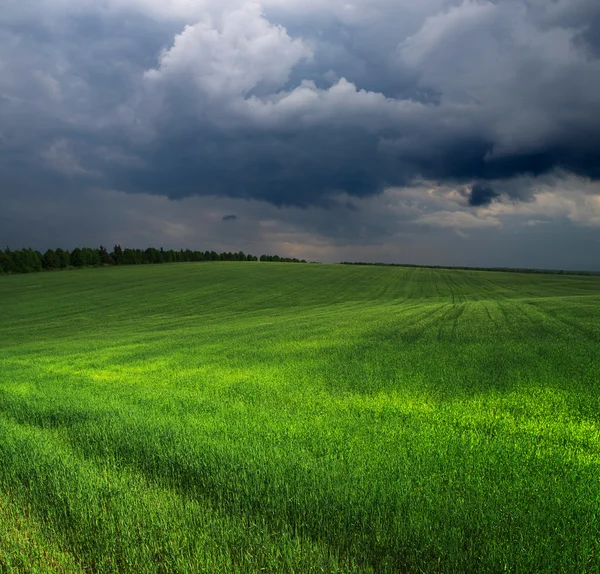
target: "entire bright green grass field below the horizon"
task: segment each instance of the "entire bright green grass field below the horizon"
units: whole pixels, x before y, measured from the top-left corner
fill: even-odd
[[[0,571],[596,572],[600,279],[0,277]]]

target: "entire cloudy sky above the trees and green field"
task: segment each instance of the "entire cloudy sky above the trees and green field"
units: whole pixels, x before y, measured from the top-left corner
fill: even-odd
[[[600,270],[600,2],[3,0],[0,243]]]

